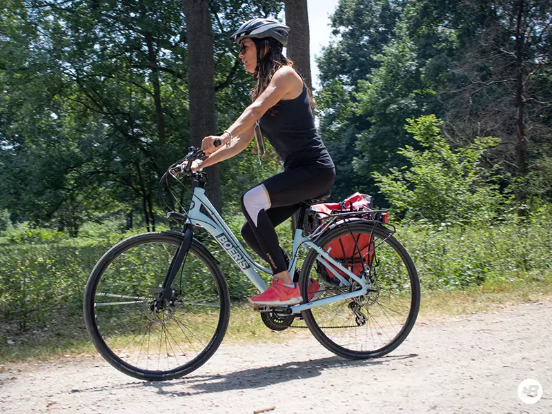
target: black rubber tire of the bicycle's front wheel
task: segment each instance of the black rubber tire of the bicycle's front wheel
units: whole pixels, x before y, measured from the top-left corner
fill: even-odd
[[[138,378],[139,380],[174,380],[175,378],[183,377],[184,375],[195,371],[197,368],[205,364],[208,359],[213,356],[215,351],[217,351],[228,328],[228,322],[230,319],[230,293],[228,292],[226,279],[224,279],[224,275],[222,274],[215,257],[213,257],[213,255],[211,255],[211,253],[199,241],[197,241],[197,239],[193,239],[192,244],[190,245],[190,252],[201,259],[210,272],[215,276],[213,279],[215,279],[215,282],[217,283],[221,302],[221,315],[219,317],[215,335],[213,335],[213,338],[210,340],[206,348],[204,348],[204,351],[201,351],[197,357],[183,366],[179,366],[168,371],[151,371],[137,368],[120,359],[110,350],[106,342],[101,337],[94,316],[94,297],[101,275],[109,264],[121,253],[124,253],[126,250],[134,246],[152,242],[168,242],[179,246],[179,244],[181,244],[182,237],[184,237],[184,235],[179,235],[177,233],[142,233],[140,235],[124,239],[118,244],[115,244],[115,246],[112,246],[112,248],[110,248],[101,257],[101,259],[99,259],[92,270],[92,273],[90,273],[90,277],[88,278],[88,282],[86,284],[83,313],[86,329],[88,330],[90,339],[92,339],[92,343],[95,345],[101,356],[113,367],[117,368],[122,373]]]

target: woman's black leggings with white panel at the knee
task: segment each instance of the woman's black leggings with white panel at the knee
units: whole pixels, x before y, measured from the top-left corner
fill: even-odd
[[[266,210],[261,209],[255,217],[256,220],[250,217],[244,204],[244,196],[248,192],[242,195],[242,211],[247,219],[242,226],[242,237],[257,255],[270,264],[275,274],[288,268],[275,226],[291,217],[299,209],[300,201],[328,193],[334,181],[334,168],[316,166],[289,168],[270,177],[259,184],[264,186],[268,193],[270,207]]]

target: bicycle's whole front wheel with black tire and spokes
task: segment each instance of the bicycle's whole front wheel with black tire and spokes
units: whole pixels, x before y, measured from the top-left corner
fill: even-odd
[[[228,286],[214,257],[193,239],[172,286],[159,293],[182,235],[144,233],[116,244],[90,274],[84,318],[115,368],[141,380],[172,380],[215,353],[230,317]]]

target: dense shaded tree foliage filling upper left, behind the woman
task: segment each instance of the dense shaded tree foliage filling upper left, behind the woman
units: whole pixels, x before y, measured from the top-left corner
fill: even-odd
[[[94,213],[151,219],[164,208],[159,177],[190,145],[181,5],[39,3],[0,6],[0,209],[72,236]],[[228,37],[238,22],[281,8],[210,2],[219,132],[248,105],[255,81]],[[255,180],[255,159],[237,161],[250,172],[242,181]],[[236,192],[234,181],[222,186]]]

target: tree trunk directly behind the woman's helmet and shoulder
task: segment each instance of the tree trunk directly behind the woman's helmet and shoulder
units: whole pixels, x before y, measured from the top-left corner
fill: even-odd
[[[286,5],[286,25],[290,28],[287,56],[295,63],[295,68],[303,76],[312,90],[310,35],[306,0],[284,0]]]

